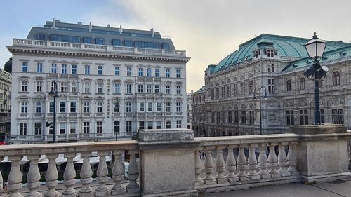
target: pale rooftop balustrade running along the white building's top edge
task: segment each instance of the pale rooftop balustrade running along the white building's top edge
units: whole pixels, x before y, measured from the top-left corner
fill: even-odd
[[[126,46],[98,45],[88,43],[68,43],[58,41],[37,41],[27,39],[13,39],[13,46],[29,46],[34,48],[51,48],[65,50],[83,50],[93,52],[124,53],[135,55],[157,55],[168,57],[186,57],[185,50],[164,50],[157,48],[133,48]]]

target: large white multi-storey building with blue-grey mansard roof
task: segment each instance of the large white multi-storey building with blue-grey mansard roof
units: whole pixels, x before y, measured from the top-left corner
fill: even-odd
[[[187,125],[190,58],[153,29],[53,20],[7,48],[13,54],[13,143],[53,140],[45,123],[53,122],[48,93],[55,83],[58,142],[131,139],[139,129]]]

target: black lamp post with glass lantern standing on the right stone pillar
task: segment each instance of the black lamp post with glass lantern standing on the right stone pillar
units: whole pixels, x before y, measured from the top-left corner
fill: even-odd
[[[305,48],[307,50],[308,56],[313,60],[313,64],[303,72],[303,75],[308,79],[314,80],[314,124],[321,124],[321,111],[319,109],[319,81],[326,76],[326,72],[329,69],[326,66],[321,66],[319,64],[319,58],[323,57],[324,50],[326,48],[326,41],[318,39],[318,36],[314,32],[314,36],[310,41],[305,43]],[[313,79],[314,77],[314,79]]]

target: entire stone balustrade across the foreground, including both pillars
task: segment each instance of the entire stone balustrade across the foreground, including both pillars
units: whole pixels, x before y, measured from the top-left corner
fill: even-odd
[[[296,125],[291,133],[279,135],[194,138],[193,131],[186,129],[141,130],[139,140],[1,146],[1,160],[7,156],[11,161],[7,190],[1,195],[198,196],[327,182],[351,177],[350,137],[343,125]],[[96,173],[89,159],[92,152],[99,156]],[[130,156],[127,179],[121,161],[124,152]],[[58,154],[67,159],[62,184],[58,183]],[[80,169],[74,168],[78,154]],[[43,173],[39,165],[44,155],[48,167]],[[24,156],[30,161],[25,177],[20,165]],[[111,156],[113,163],[107,165],[106,156]],[[22,184],[22,179],[27,184]]]

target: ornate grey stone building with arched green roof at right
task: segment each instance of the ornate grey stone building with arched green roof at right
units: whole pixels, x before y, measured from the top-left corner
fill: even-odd
[[[261,34],[209,65],[205,86],[192,93],[195,135],[284,133],[293,124],[312,124],[314,81],[303,76],[312,64],[303,46],[309,40]],[[319,82],[322,123],[351,128],[351,43],[327,42],[320,60],[329,68]]]

